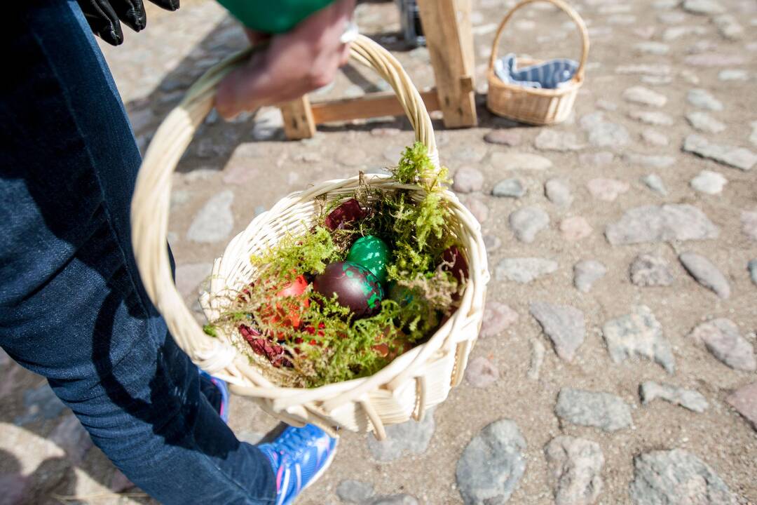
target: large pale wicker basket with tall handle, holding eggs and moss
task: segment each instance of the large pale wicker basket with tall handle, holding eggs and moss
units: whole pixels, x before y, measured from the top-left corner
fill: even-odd
[[[208,70],[188,90],[184,100],[157,129],[139,171],[132,201],[132,241],[139,273],[145,288],[164,316],[176,343],[202,369],[229,382],[235,394],[253,397],[268,413],[294,426],[313,423],[334,433],[334,427],[352,431],[373,431],[385,438],[386,425],[408,419],[422,419],[428,407],[447,398],[450,388],[463,378],[468,356],[478,336],[489,280],[486,251],[480,225],[451,192],[444,192],[452,216],[447,231],[456,235],[469,265],[469,282],[459,308],[422,345],[407,351],[375,375],[363,379],[324,385],[319,388],[282,388],[267,380],[248,357],[232,344],[229,335],[212,338],[195,321],[183,304],[171,276],[167,254],[167,226],[171,173],[192,135],[213,108],[214,90],[226,73],[248,58],[249,50]],[[351,56],[372,67],[394,88],[416,140],[428,148],[438,166],[438,152],[431,120],[407,73],[380,45],[359,36],[351,45]],[[382,189],[410,189],[388,176],[365,176]],[[315,199],[338,198],[353,192],[359,177],[337,179],[313,185],[280,200],[260,214],[239,233],[213,266],[210,293],[201,304],[209,320],[218,316],[229,290],[238,292],[254,279],[249,257],[276,244],[286,232],[304,232],[316,218]]]

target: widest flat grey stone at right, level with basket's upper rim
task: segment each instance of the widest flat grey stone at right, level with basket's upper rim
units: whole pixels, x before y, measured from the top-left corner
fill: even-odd
[[[708,217],[689,204],[644,205],[626,210],[617,223],[607,226],[612,245],[706,240],[718,238],[720,230]]]

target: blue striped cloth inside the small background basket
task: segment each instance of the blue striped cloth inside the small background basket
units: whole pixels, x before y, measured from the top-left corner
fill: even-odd
[[[494,73],[508,84],[524,88],[554,89],[564,86],[578,70],[578,62],[567,58],[544,61],[517,68],[516,55],[510,53],[494,62]]]

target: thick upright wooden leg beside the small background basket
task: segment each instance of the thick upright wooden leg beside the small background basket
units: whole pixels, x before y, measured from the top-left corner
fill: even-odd
[[[475,126],[471,0],[418,0],[444,126]]]

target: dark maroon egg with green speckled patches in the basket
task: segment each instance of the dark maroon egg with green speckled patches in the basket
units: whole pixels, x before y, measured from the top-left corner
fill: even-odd
[[[337,302],[357,317],[373,316],[381,310],[384,288],[370,270],[351,261],[331,263],[313,279],[313,289]]]

